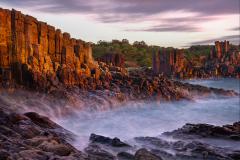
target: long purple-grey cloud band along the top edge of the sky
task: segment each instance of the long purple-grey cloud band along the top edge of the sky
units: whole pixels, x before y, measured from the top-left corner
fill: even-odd
[[[185,10],[203,15],[237,14],[238,0],[3,0],[1,3],[39,7],[50,13],[141,14],[148,16],[166,11]]]

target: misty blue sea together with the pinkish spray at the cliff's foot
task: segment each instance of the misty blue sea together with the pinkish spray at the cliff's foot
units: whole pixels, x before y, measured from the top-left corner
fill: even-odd
[[[197,82],[203,83],[194,81]],[[238,80],[210,82],[209,86],[212,87],[220,83],[223,87],[231,85],[230,89],[238,90]],[[107,91],[73,90],[59,98],[17,90],[14,93],[1,93],[0,101],[22,113],[33,111],[48,116],[77,135],[75,145],[79,148],[87,145],[91,133],[131,140],[137,136],[157,136],[185,123],[223,125],[239,120],[238,97],[214,95],[194,101],[119,102],[111,94]]]

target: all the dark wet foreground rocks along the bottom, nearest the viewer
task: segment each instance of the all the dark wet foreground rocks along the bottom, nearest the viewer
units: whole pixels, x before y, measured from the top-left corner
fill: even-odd
[[[240,122],[213,126],[186,124],[159,137],[136,137],[132,146],[118,138],[90,135],[89,145],[83,151],[69,142],[74,135],[34,112],[14,113],[0,107],[0,159],[69,159],[69,160],[161,160],[161,159],[215,159],[237,160],[239,148],[222,148],[208,143],[224,140],[239,143]],[[205,140],[205,141],[204,141]]]

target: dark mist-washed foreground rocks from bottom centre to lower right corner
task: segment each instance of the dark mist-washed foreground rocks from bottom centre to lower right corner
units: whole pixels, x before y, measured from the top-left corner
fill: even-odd
[[[92,134],[87,152],[92,157],[97,154],[98,159],[116,159],[116,155],[120,160],[238,160],[239,147],[224,144],[239,144],[239,139],[231,138],[239,133],[239,122],[225,126],[186,124],[158,137],[135,137],[134,145],[127,147],[112,145],[115,138]]]

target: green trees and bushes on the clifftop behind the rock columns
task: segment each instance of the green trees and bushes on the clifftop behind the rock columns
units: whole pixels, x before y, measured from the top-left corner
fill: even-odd
[[[184,49],[184,54],[188,60],[199,58],[200,56],[209,56],[213,47],[214,45],[194,45]],[[230,45],[230,47],[236,48],[235,45]],[[118,53],[124,56],[126,67],[151,67],[152,53],[163,48],[147,45],[144,41],[135,41],[133,44],[130,44],[127,39],[112,40],[111,42],[99,41],[97,44],[93,44],[93,56],[98,58],[106,53]],[[168,47],[165,49],[173,48]]]

